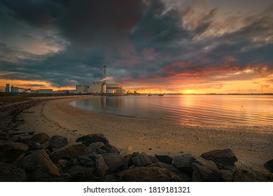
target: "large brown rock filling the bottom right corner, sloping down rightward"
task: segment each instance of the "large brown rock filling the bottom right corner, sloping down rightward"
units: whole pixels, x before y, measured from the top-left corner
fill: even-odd
[[[247,162],[237,161],[233,168],[233,180],[235,182],[272,182],[273,174]]]

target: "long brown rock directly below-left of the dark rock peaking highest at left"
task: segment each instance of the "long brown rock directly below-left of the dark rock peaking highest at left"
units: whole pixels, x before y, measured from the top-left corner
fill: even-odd
[[[51,153],[50,158],[53,162],[57,162],[60,159],[70,160],[83,155],[87,155],[87,148],[83,144],[70,144]]]

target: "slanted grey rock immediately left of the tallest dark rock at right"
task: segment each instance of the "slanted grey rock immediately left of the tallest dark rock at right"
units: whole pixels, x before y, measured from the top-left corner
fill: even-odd
[[[216,164],[210,160],[205,160],[203,158],[197,158],[189,153],[185,153],[174,157],[174,166],[181,169],[182,172],[192,176],[193,174],[193,164],[202,165],[211,169],[212,171],[217,171],[218,167]]]

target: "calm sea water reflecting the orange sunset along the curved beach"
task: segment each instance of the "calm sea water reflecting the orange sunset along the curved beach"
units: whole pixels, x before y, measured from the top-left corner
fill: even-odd
[[[71,102],[80,109],[181,123],[273,125],[270,95],[165,95],[94,97]]]

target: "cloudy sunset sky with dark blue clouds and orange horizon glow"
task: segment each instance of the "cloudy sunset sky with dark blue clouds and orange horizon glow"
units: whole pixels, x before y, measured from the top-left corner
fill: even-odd
[[[273,93],[270,0],[0,0],[0,87]]]

